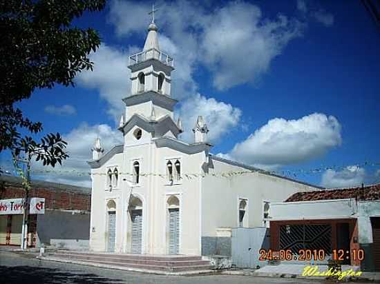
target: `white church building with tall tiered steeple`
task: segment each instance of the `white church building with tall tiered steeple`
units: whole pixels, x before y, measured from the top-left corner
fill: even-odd
[[[173,59],[149,25],[142,52],[129,57],[131,94],[120,121],[122,145],[92,149],[90,249],[136,254],[215,253],[234,227],[267,226],[269,202],[317,187],[210,154],[206,121],[193,143],[178,139],[171,97]],[[126,78],[127,80],[127,78]],[[122,102],[120,102],[122,103]],[[244,172],[249,172],[244,174]]]

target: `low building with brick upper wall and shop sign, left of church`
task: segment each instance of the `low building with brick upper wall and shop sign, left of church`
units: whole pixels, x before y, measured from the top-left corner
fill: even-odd
[[[22,179],[0,176],[0,245],[21,245],[22,210],[10,210],[21,204]],[[52,245],[88,250],[90,234],[91,188],[31,181],[31,200],[43,201],[39,214],[30,214],[28,246]],[[8,207],[8,208],[7,208]],[[35,210],[36,211],[36,210]]]

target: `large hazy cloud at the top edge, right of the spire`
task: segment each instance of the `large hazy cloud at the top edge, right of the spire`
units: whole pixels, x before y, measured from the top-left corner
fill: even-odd
[[[279,15],[262,17],[258,6],[233,2],[209,15],[202,33],[202,59],[213,71],[219,90],[254,83],[281,54],[287,43],[302,35],[303,25]]]

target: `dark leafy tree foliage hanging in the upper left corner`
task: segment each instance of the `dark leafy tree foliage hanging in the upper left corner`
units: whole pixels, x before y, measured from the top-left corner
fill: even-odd
[[[92,28],[73,26],[84,12],[100,11],[105,0],[6,0],[0,1],[0,152],[30,152],[46,165],[66,159],[66,142],[57,134],[48,134],[35,142],[22,136],[43,130],[32,122],[15,103],[30,98],[39,88],[53,88],[56,83],[74,85],[82,70],[92,70],[88,58],[100,44]]]

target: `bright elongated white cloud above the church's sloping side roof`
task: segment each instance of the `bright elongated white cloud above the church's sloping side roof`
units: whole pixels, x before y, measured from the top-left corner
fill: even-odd
[[[228,154],[250,165],[289,165],[314,159],[340,144],[339,121],[314,113],[301,119],[271,119]]]

